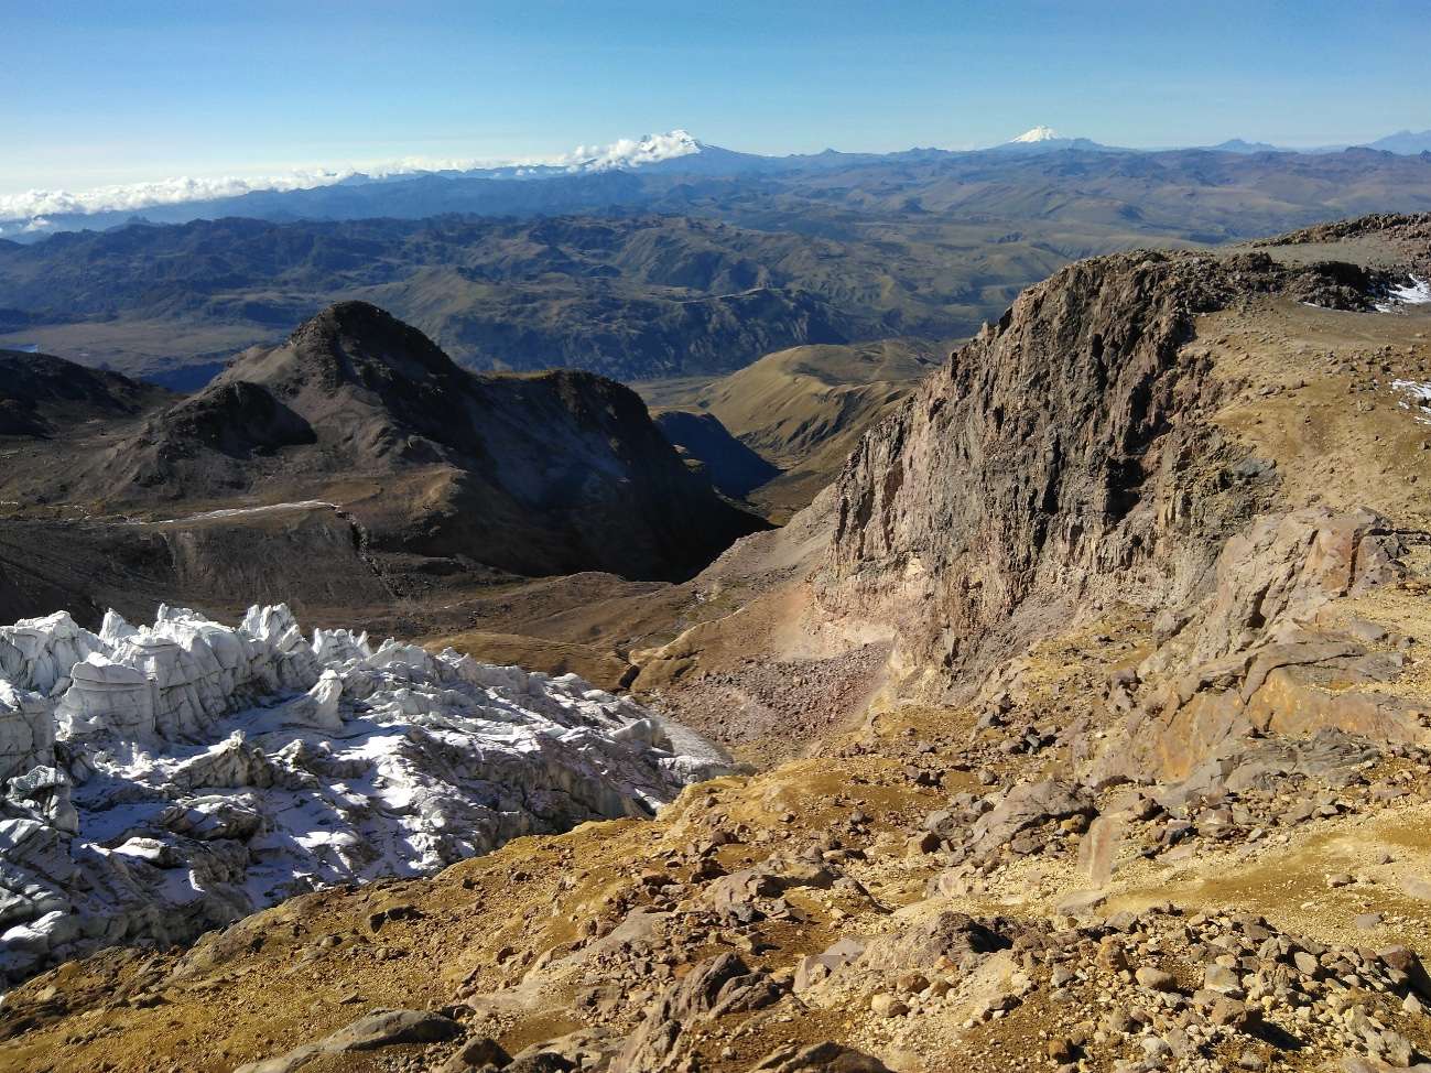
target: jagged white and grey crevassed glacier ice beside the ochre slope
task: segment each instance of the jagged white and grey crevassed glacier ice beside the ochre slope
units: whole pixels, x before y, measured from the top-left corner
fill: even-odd
[[[640,817],[723,771],[645,708],[366,635],[182,608],[0,628],[0,980],[332,883]]]

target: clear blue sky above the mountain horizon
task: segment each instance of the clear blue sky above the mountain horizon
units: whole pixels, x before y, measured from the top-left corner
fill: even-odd
[[[0,0],[0,193],[687,127],[783,153],[1431,126],[1427,0]]]

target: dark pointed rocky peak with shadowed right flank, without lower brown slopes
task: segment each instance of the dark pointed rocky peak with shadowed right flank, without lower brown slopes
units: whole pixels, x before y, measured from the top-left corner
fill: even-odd
[[[384,488],[352,506],[369,551],[527,575],[681,578],[764,528],[687,469],[628,388],[577,371],[474,375],[362,302],[245,353],[79,485],[142,505],[278,481],[341,499],[329,489],[345,478]]]

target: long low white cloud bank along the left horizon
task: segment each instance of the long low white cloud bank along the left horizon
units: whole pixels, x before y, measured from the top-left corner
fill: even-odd
[[[24,193],[0,195],[0,220],[24,222],[23,230],[41,230],[50,226],[44,216],[92,216],[102,212],[137,212],[159,205],[180,205],[203,202],[215,197],[238,197],[255,190],[308,190],[332,186],[349,176],[371,175],[388,177],[438,170],[472,170],[479,167],[561,169],[570,173],[597,172],[614,167],[640,167],[641,165],[670,160],[700,150],[700,144],[685,130],[671,130],[665,134],[647,134],[641,139],[621,139],[608,146],[578,146],[570,153],[554,157],[532,157],[525,160],[435,160],[431,157],[405,157],[363,167],[338,170],[311,169],[295,170],[282,176],[240,179],[220,176],[195,179],[160,179],[126,186],[100,186],[93,190],[27,190]],[[6,230],[0,227],[0,232]]]

